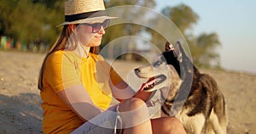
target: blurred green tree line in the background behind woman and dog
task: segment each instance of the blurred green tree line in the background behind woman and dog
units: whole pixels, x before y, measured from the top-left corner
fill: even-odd
[[[0,36],[9,36],[15,42],[24,43],[26,47],[32,45],[39,49],[44,44],[46,49],[49,48],[61,32],[61,27],[56,27],[56,25],[64,20],[64,2],[65,0],[0,0]],[[105,5],[106,8],[119,5],[139,5],[154,8],[156,3],[154,0],[105,0]],[[132,11],[126,12],[123,14],[126,15]],[[195,36],[191,31],[193,25],[196,25],[199,20],[199,16],[192,8],[181,3],[175,7],[163,8],[161,14],[172,20],[182,32],[189,44],[195,64],[220,67],[219,53],[216,51],[221,45],[218,34],[212,32]],[[150,21],[157,20],[153,18]],[[102,47],[115,38],[137,35],[142,31],[151,36],[150,42],[153,42],[157,47],[162,47],[166,41],[158,32],[143,25],[120,24],[113,25],[108,29],[104,35]]]

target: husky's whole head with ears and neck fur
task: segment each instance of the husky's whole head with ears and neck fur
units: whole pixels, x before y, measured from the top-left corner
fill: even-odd
[[[155,89],[161,89],[161,87],[168,87],[166,90],[161,90],[165,95],[165,110],[166,113],[176,111],[177,108],[173,107],[175,100],[179,102],[176,105],[180,105],[189,95],[187,87],[190,87],[190,81],[192,81],[191,74],[193,71],[193,64],[183,51],[183,47],[180,42],[172,45],[166,42],[166,48],[163,53],[160,54],[157,60],[152,64],[135,69],[135,73],[140,78],[152,79],[154,77],[160,77],[160,75],[168,75],[165,82],[161,81],[156,83],[155,87],[147,89],[153,91]],[[190,89],[190,88],[188,88]],[[181,102],[181,103],[180,103]],[[171,107],[172,110],[171,110]]]

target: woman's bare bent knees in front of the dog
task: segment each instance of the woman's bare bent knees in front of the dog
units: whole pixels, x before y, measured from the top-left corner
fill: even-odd
[[[119,104],[124,134],[185,134],[182,123],[175,117],[149,119],[146,104],[140,98],[130,98]]]

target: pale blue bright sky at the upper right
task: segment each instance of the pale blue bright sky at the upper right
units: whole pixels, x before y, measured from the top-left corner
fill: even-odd
[[[222,43],[221,65],[227,70],[256,74],[256,1],[255,0],[156,0],[157,10],[180,3],[198,14],[194,34],[216,32]]]

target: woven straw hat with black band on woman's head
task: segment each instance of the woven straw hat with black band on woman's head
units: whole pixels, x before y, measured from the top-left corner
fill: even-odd
[[[106,15],[103,0],[68,0],[65,2],[65,22],[60,25],[89,23],[114,18],[116,17]]]

